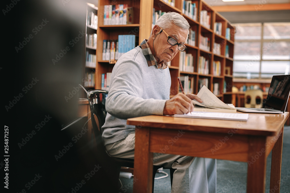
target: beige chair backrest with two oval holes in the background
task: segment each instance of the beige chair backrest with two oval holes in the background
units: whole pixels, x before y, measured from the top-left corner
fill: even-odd
[[[262,108],[263,92],[261,90],[247,90],[244,100],[247,108]]]

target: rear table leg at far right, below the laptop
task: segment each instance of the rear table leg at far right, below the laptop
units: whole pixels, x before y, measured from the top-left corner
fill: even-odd
[[[280,192],[280,179],[281,179],[281,163],[282,163],[282,146],[283,146],[283,130],[280,137],[276,141],[272,149],[271,161],[271,178],[270,178],[270,192]]]

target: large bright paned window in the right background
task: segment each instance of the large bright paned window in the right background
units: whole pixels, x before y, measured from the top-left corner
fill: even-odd
[[[290,74],[290,23],[236,23],[233,76]]]

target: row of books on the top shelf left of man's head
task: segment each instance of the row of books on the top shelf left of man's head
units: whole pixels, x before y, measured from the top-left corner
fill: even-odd
[[[133,17],[133,7],[127,4],[104,5],[104,25],[132,24]]]

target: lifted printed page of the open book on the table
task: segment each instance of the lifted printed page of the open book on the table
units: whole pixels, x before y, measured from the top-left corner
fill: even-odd
[[[193,104],[197,104],[205,107],[215,107],[220,109],[235,109],[222,102],[218,97],[216,97],[206,86],[203,86],[197,93],[197,96],[202,100],[202,103],[197,102],[197,100],[192,100]]]

